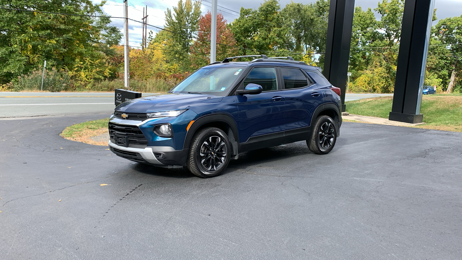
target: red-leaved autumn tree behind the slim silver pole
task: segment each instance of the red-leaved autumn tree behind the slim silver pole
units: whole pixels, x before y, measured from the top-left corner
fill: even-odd
[[[196,40],[191,46],[191,67],[199,68],[207,65],[210,61],[210,40],[211,40],[211,23],[212,14],[207,12],[199,19],[199,30],[197,37],[201,40]],[[237,48],[231,47],[236,45],[236,40],[227,25],[223,14],[217,14],[217,61],[223,60],[226,57],[237,54]]]

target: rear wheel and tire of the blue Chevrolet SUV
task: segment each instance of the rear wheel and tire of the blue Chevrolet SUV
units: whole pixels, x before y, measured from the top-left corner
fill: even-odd
[[[311,130],[310,139],[306,140],[306,145],[312,153],[325,155],[332,151],[336,140],[334,120],[328,116],[319,116]]]

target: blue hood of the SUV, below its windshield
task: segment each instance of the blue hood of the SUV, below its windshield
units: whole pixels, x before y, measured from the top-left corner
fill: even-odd
[[[207,94],[166,93],[125,101],[116,111],[149,113],[156,111],[182,110],[196,105],[220,102],[223,97]]]

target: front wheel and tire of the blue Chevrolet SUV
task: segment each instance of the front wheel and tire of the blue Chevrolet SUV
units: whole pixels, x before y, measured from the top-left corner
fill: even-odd
[[[228,136],[215,127],[207,127],[195,134],[189,145],[186,166],[201,178],[220,175],[231,158]]]

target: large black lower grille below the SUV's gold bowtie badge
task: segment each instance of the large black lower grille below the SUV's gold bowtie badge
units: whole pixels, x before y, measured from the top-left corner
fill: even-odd
[[[146,137],[136,125],[109,123],[109,136],[111,141],[120,146],[129,147],[130,144],[136,148],[147,146]]]

